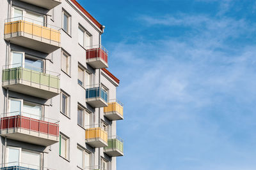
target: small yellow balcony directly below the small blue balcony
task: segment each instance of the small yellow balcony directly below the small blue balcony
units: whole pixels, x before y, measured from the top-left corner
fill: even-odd
[[[108,133],[100,127],[86,129],[85,142],[94,148],[108,146]]]

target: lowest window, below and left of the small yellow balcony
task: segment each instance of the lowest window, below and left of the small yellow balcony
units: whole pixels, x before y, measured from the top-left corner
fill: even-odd
[[[77,146],[77,166],[84,169],[84,167],[89,167],[91,162],[90,153],[86,152],[80,146]]]

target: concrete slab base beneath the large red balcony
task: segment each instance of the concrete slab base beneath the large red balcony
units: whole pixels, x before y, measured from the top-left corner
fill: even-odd
[[[8,139],[14,139],[41,146],[50,146],[54,143],[58,143],[59,141],[58,136],[52,136],[51,134],[44,134],[42,132],[29,131],[19,127],[3,129],[1,130],[1,136]]]

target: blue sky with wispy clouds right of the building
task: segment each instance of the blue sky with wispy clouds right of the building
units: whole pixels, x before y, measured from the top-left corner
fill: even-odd
[[[256,169],[256,2],[79,1],[106,25],[118,169]]]

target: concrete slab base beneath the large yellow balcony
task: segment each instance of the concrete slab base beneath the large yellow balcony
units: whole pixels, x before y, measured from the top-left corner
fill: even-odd
[[[5,34],[4,39],[15,45],[24,46],[44,53],[52,53],[60,48],[60,43],[46,38],[28,34],[25,32],[15,32]]]

